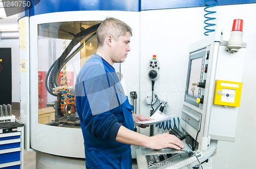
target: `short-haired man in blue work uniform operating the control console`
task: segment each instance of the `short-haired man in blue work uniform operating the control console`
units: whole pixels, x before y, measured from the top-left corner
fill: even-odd
[[[148,137],[134,132],[134,122],[152,120],[132,114],[114,63],[122,63],[130,48],[132,29],[106,18],[97,30],[97,52],[81,68],[75,86],[86,153],[86,168],[132,168],[130,145],[152,149],[184,148],[168,133]],[[145,126],[141,126],[145,127]]]

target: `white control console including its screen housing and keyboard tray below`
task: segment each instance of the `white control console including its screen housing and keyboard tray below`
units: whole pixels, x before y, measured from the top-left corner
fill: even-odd
[[[181,127],[199,143],[195,154],[200,162],[209,160],[216,153],[218,140],[234,142],[238,107],[215,105],[212,103],[215,90],[215,80],[242,81],[245,47],[238,53],[232,54],[225,51],[227,41],[222,40],[223,33],[217,30],[214,34],[195,42],[188,47],[188,74],[186,95],[182,107]],[[190,78],[191,61],[201,59],[199,65],[199,77]],[[195,63],[195,62],[194,62]],[[206,66],[207,65],[207,66]],[[206,71],[205,71],[206,67]],[[198,79],[198,81],[190,81]],[[205,80],[205,81],[204,81]],[[193,96],[191,83],[205,82],[205,88],[198,88]],[[197,88],[197,87],[195,87]],[[202,98],[202,96],[204,96]],[[197,103],[197,97],[203,102]],[[197,137],[197,138],[196,138]],[[198,160],[195,156],[186,153],[175,154],[161,160],[161,162],[148,166],[146,155],[142,155],[142,149],[136,150],[137,163],[140,169],[155,168],[187,168],[195,166]],[[156,151],[156,159],[160,159],[164,151]],[[166,156],[166,155],[165,155]]]

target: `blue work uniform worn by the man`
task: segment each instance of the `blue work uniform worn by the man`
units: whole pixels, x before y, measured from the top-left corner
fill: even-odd
[[[121,125],[134,130],[134,124],[114,67],[92,55],[77,75],[75,94],[86,168],[132,168],[131,145],[115,141]]]

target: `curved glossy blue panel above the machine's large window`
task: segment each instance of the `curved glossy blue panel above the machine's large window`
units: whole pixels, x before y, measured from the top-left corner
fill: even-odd
[[[34,0],[35,4],[36,1]],[[37,5],[32,6],[29,10],[29,15],[39,15],[52,12],[65,11],[140,11],[140,0],[41,0]]]

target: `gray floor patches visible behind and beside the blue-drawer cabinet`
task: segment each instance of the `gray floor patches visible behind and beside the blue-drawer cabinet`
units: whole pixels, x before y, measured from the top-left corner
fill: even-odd
[[[19,120],[19,111],[12,110],[12,115]],[[24,150],[24,169],[35,169],[35,152]]]

